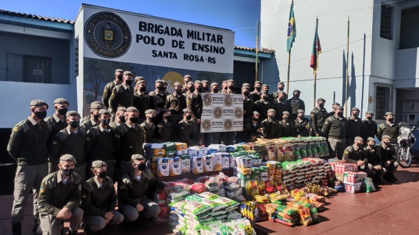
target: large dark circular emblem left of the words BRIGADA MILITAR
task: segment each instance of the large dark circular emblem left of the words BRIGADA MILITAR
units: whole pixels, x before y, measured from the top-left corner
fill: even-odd
[[[105,58],[117,58],[131,45],[131,31],[127,23],[111,12],[99,12],[88,19],[84,38],[94,54]]]

